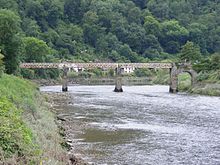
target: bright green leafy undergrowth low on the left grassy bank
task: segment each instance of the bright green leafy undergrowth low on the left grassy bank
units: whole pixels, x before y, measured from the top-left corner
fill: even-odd
[[[32,150],[33,136],[22,121],[21,113],[21,110],[6,98],[0,98],[0,148],[6,158],[13,154],[27,156]]]

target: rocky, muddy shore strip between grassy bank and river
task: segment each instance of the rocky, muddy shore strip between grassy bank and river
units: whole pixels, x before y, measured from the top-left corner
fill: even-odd
[[[59,133],[64,139],[62,146],[66,148],[69,157],[69,165],[91,165],[82,159],[80,154],[74,153],[74,137],[77,131],[83,126],[75,125],[67,115],[68,107],[72,104],[73,98],[69,93],[50,93],[42,92],[49,104],[49,109],[56,116],[56,124],[59,127]]]

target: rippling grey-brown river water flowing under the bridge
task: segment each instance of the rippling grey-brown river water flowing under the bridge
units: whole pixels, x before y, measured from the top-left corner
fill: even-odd
[[[60,92],[60,86],[42,91]],[[97,165],[220,165],[220,98],[168,86],[72,86],[74,152]]]

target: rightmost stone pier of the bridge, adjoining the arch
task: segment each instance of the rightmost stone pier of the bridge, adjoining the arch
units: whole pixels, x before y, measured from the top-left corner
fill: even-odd
[[[175,64],[173,64],[172,69],[170,69],[170,93],[178,92],[178,69]]]

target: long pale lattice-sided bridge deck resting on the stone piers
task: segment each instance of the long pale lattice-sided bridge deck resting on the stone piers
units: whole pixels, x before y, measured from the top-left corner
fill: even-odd
[[[149,68],[149,69],[170,69],[172,68],[171,63],[21,63],[20,68],[102,68],[102,69],[115,69],[121,68]]]

